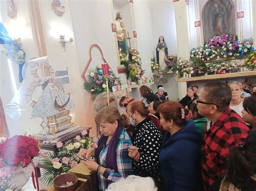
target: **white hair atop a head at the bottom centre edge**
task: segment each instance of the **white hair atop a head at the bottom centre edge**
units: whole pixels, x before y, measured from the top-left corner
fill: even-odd
[[[120,179],[111,183],[106,191],[157,191],[154,180],[150,177],[130,175],[126,179]]]

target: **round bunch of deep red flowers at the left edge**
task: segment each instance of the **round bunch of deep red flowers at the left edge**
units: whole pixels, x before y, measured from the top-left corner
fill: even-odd
[[[28,166],[39,152],[39,143],[32,136],[14,136],[0,143],[0,158],[8,166]]]

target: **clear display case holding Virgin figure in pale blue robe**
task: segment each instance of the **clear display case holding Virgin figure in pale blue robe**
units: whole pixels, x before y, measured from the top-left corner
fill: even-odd
[[[90,94],[70,74],[70,69],[60,55],[27,61],[22,70],[24,81],[5,107],[9,129],[50,142],[80,131],[75,118],[83,118]],[[83,114],[78,112],[81,107]]]

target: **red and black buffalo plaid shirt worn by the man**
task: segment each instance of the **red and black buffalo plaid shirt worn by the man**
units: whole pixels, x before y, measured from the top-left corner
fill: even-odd
[[[226,171],[226,158],[232,148],[244,142],[250,129],[244,120],[228,108],[205,132],[203,142],[202,178],[205,190]]]

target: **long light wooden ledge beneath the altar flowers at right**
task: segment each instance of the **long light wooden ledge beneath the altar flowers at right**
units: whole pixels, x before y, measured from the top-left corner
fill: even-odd
[[[191,82],[191,81],[201,81],[201,80],[218,80],[218,79],[228,79],[234,77],[249,77],[256,76],[256,70],[247,71],[247,72],[237,72],[237,73],[226,73],[226,74],[214,74],[214,75],[206,75],[200,77],[183,77],[177,79],[178,82]]]

